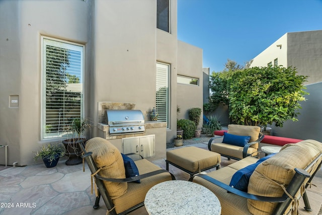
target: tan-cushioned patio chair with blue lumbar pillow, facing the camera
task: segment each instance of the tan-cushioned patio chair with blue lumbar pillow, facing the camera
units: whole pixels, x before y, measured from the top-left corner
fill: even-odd
[[[219,153],[228,159],[241,160],[247,156],[258,156],[259,142],[264,138],[259,126],[229,124],[222,142],[208,142],[209,151]]]

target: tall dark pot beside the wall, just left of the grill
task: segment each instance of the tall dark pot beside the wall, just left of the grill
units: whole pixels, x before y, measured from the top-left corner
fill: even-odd
[[[86,142],[86,138],[81,138],[84,140],[84,143]],[[62,143],[65,146],[65,153],[68,157],[68,160],[65,162],[67,166],[73,166],[83,163],[82,159],[82,150],[79,148],[78,144],[76,144],[76,141],[78,138],[72,138],[72,139],[66,139],[63,140]]]

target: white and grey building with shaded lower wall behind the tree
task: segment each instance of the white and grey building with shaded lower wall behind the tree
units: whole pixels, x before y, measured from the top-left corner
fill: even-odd
[[[322,30],[284,34],[251,63],[251,67],[267,65],[295,66],[297,75],[308,76],[305,85],[310,93],[300,103],[298,122],[288,120],[282,128],[273,125],[273,134],[322,141]]]

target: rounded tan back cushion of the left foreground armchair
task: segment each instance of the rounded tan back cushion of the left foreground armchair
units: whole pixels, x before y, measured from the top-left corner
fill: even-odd
[[[92,152],[92,158],[97,168],[102,167],[98,173],[106,178],[125,178],[125,168],[120,151],[108,140],[94,137],[86,142],[85,149]],[[127,183],[104,181],[111,199],[117,198],[127,191]]]

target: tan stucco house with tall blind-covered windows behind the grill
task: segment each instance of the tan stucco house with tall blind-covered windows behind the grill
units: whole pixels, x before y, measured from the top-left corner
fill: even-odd
[[[176,135],[177,105],[183,114],[202,108],[202,49],[177,40],[176,0],[3,0],[0,38],[0,145],[9,146],[9,164],[32,164],[33,151],[62,140],[72,117],[90,118],[88,137],[101,136],[102,102],[135,104],[146,121],[156,107],[163,151]]]

